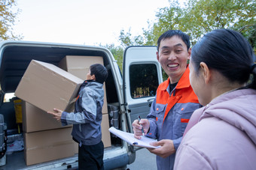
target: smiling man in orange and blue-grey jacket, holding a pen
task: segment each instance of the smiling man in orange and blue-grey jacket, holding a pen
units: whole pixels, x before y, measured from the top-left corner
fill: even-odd
[[[157,40],[157,60],[169,78],[157,88],[157,95],[147,119],[133,122],[134,136],[141,139],[142,127],[148,137],[157,139],[148,149],[157,154],[157,169],[173,169],[175,151],[187,122],[195,109],[200,108],[190,86],[187,60],[190,58],[190,40],[179,30],[169,30]]]

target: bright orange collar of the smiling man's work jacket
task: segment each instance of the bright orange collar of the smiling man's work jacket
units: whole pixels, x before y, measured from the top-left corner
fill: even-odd
[[[178,80],[178,84],[176,85],[176,89],[180,89],[180,88],[188,88],[190,86],[190,82],[189,82],[189,67],[187,64],[187,69],[185,70],[185,72],[183,73],[183,75],[181,76],[181,79]],[[166,91],[166,89],[169,87],[169,78],[163,82],[163,85],[160,86],[160,90],[161,91]]]

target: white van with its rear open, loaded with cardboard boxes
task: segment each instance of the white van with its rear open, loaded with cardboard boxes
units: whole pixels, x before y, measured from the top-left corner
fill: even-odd
[[[0,114],[7,126],[7,143],[23,139],[15,121],[14,103],[5,100],[14,93],[30,61],[44,61],[57,65],[66,55],[102,56],[108,69],[105,94],[108,103],[109,127],[132,133],[132,122],[140,115],[148,115],[157,86],[163,82],[156,46],[130,46],[123,55],[123,75],[108,49],[60,43],[2,41],[0,43]],[[86,74],[86,73],[85,73]],[[105,148],[105,169],[125,169],[136,159],[136,149],[111,135],[111,146]],[[3,158],[2,158],[3,159]],[[0,169],[76,169],[78,155],[26,166],[23,151],[5,153],[6,162]],[[1,163],[1,161],[0,161]]]

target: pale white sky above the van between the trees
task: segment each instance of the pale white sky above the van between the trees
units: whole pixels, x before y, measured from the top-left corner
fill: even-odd
[[[14,34],[23,40],[83,45],[120,45],[120,31],[148,28],[168,0],[17,0]]]

